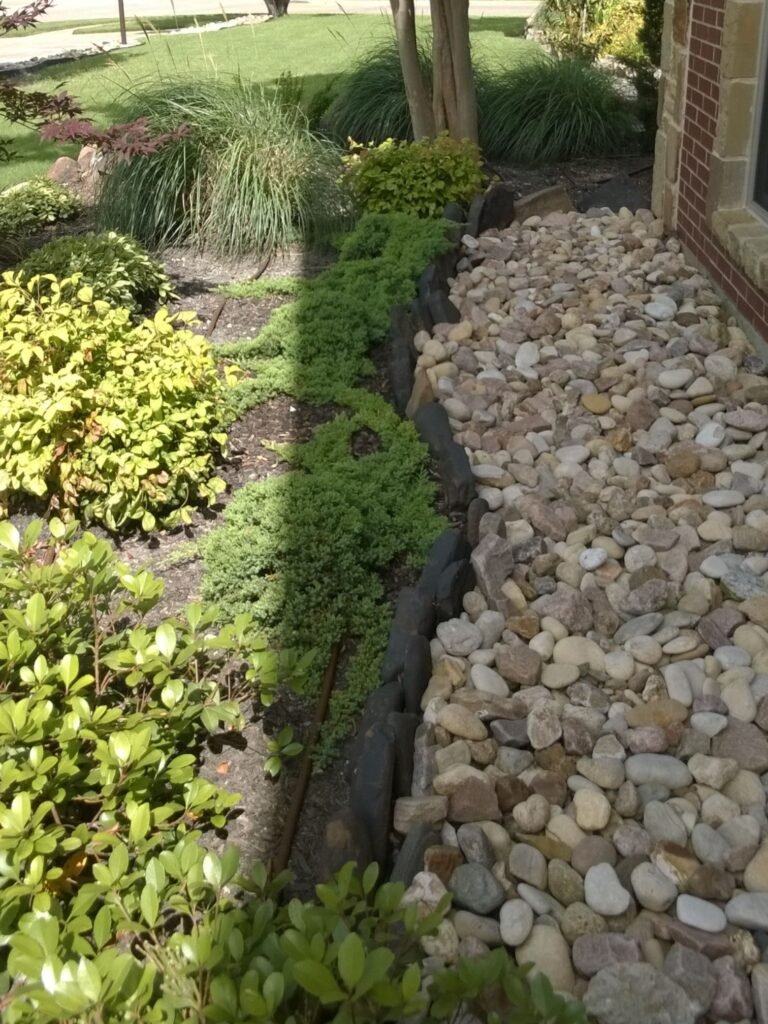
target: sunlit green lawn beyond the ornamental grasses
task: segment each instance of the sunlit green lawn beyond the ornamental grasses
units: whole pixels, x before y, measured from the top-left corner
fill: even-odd
[[[57,65],[29,76],[26,83],[50,91],[67,89],[78,97],[86,116],[105,125],[120,122],[131,89],[163,76],[195,79],[239,73],[269,82],[289,71],[318,88],[391,31],[390,19],[379,14],[295,15],[226,32],[152,37],[134,49]],[[472,18],[475,54],[508,67],[538,48],[517,38],[523,31],[524,18]],[[57,156],[76,152],[73,146],[43,144],[35,131],[0,127],[16,151],[9,164],[0,164],[0,187],[44,174]]]

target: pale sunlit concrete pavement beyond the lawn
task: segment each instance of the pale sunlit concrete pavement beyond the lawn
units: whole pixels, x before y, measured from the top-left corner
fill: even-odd
[[[23,6],[23,5],[17,5]],[[472,0],[470,11],[473,16],[485,17],[528,17],[539,6],[538,0]],[[416,0],[417,11],[420,14],[429,13],[429,0]],[[293,14],[377,14],[390,13],[387,0],[292,0]],[[265,16],[262,0],[126,0],[128,16],[153,17],[169,14],[210,14],[216,11],[226,11],[231,14],[256,14]],[[290,15],[289,15],[290,16]],[[55,20],[77,18],[82,22],[86,17],[117,19],[117,3],[115,0],[58,0],[52,7],[49,17]],[[44,20],[41,22],[44,25]],[[141,32],[129,32],[130,46],[135,46],[144,39]],[[12,34],[0,38],[0,67],[26,65],[30,61],[52,59],[75,53],[88,53],[95,48],[115,49],[120,46],[119,36],[114,32],[103,32],[95,29],[93,33],[75,35],[72,29],[59,29],[55,32],[41,32],[34,36]]]

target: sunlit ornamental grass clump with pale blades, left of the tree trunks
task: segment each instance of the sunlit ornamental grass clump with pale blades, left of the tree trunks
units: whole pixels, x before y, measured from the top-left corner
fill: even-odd
[[[176,137],[116,165],[97,219],[151,248],[193,244],[223,256],[324,239],[347,216],[337,147],[298,103],[241,78],[147,86],[136,111]]]

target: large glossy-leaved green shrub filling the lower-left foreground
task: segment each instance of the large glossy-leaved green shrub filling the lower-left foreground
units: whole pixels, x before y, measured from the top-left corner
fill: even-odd
[[[0,524],[0,1009],[6,1024],[585,1024],[503,950],[426,977],[424,913],[347,865],[281,899],[239,851],[199,843],[237,797],[201,778],[205,736],[238,730],[301,675],[247,616],[190,605],[51,520]],[[152,618],[153,625],[148,625]]]

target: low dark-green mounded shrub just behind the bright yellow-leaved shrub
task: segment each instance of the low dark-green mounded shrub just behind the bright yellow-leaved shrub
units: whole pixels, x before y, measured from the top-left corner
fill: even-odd
[[[115,231],[54,239],[27,257],[16,267],[26,278],[80,274],[81,285],[93,291],[94,299],[131,312],[146,311],[173,297],[171,283],[162,265],[133,239]],[[45,282],[38,284],[38,290]]]

